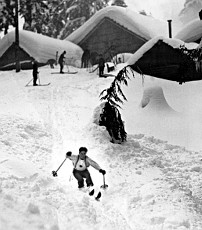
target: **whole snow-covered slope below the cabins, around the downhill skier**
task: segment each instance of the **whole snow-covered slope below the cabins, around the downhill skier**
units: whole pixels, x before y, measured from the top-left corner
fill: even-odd
[[[0,229],[201,230],[202,82],[131,78],[119,145],[94,122],[113,77],[58,68],[40,68],[51,82],[40,87],[25,87],[31,70],[0,73]],[[52,176],[81,146],[107,171],[100,202],[78,191],[70,161]],[[98,190],[102,175],[89,170]]]

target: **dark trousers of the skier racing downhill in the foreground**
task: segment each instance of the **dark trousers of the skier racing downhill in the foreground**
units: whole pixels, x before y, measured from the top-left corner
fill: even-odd
[[[88,187],[93,186],[93,181],[92,181],[90,173],[87,169],[85,169],[84,171],[79,171],[79,170],[74,169],[73,175],[78,181],[78,187],[79,188],[84,187],[84,178],[86,178],[86,184]]]

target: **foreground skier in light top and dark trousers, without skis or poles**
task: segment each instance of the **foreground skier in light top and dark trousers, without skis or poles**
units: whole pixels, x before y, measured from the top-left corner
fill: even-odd
[[[106,171],[93,161],[90,157],[86,156],[88,149],[86,147],[79,148],[79,155],[72,155],[71,151],[66,153],[66,158],[70,159],[73,163],[73,175],[78,181],[78,188],[84,188],[84,178],[86,179],[87,187],[93,186],[91,175],[88,167],[91,165],[103,175]]]

